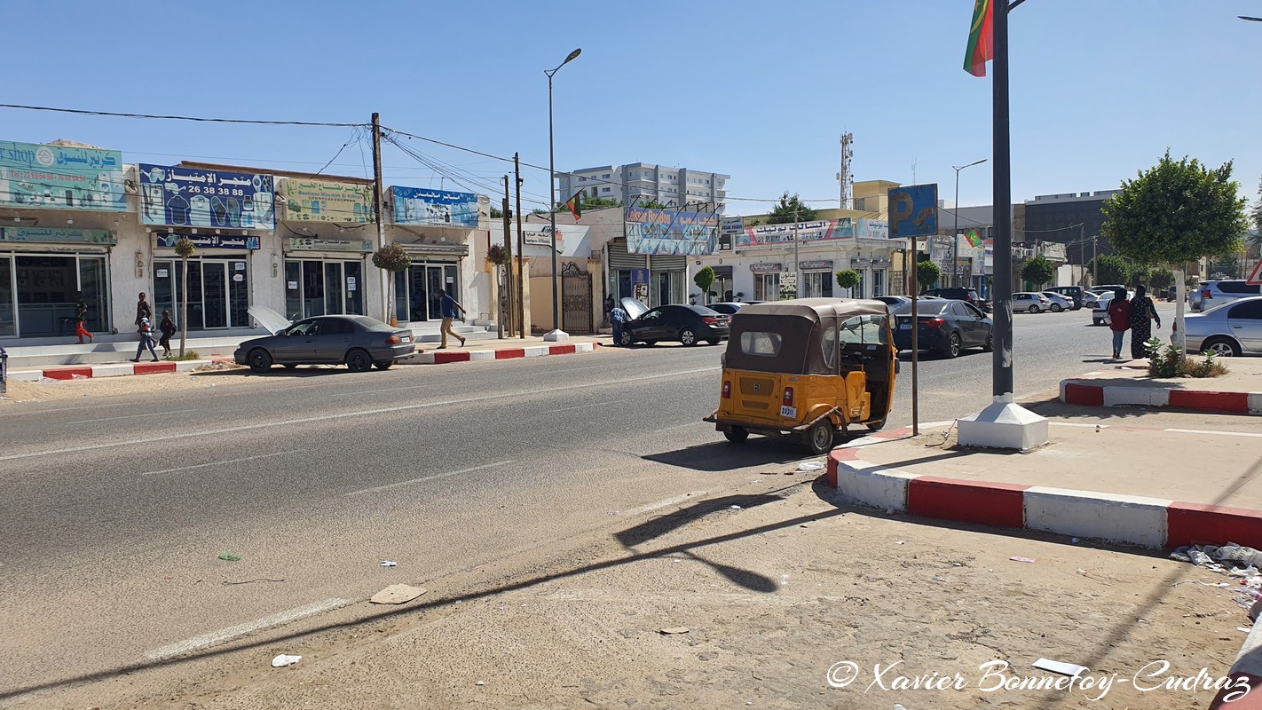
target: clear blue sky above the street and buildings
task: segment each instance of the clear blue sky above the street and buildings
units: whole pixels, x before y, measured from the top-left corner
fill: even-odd
[[[6,103],[367,122],[557,166],[632,161],[732,175],[728,193],[838,197],[838,136],[858,180],[939,183],[992,156],[991,81],[967,74],[972,0],[780,3],[0,3]],[[1262,0],[1026,0],[1012,34],[1012,197],[1116,188],[1170,148],[1262,178]],[[58,137],[127,161],[208,159],[363,175],[345,127],[271,127],[0,108],[0,140]],[[387,184],[488,192],[493,159],[410,141],[464,185],[389,146]],[[915,173],[912,173],[915,165]],[[991,164],[960,174],[991,202]],[[526,169],[526,199],[546,172]],[[473,182],[477,180],[477,182]],[[482,187],[487,185],[487,187]],[[819,203],[827,207],[827,203]],[[835,206],[835,202],[834,202]],[[530,202],[526,207],[531,207]],[[729,213],[757,213],[733,202]]]

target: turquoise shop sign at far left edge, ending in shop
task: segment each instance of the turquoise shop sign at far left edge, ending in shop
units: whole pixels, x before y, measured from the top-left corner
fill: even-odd
[[[0,141],[0,207],[122,212],[122,154]]]

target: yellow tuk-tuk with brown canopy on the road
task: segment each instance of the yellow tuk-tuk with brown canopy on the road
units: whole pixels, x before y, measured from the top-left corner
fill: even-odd
[[[732,443],[791,436],[823,454],[838,430],[885,425],[897,362],[882,301],[746,305],[732,317],[719,405],[704,421]]]

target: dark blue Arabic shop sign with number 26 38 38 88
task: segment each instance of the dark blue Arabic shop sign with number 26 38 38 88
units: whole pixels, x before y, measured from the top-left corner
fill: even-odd
[[[143,224],[276,228],[271,175],[145,163],[138,172]]]

